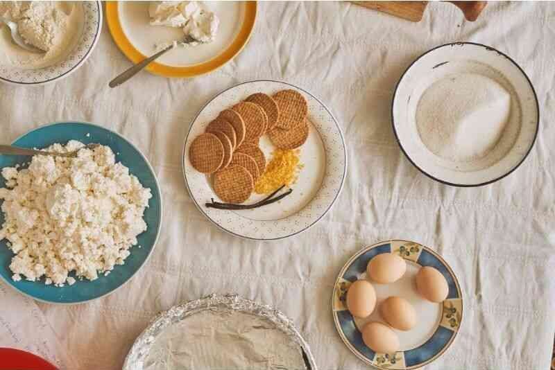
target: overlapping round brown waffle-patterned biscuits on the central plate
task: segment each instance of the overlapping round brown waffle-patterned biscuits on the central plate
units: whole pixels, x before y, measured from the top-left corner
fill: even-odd
[[[223,110],[194,139],[189,148],[191,165],[214,174],[214,191],[221,200],[245,202],[266,169],[259,139],[268,134],[276,148],[299,148],[309,133],[307,113],[307,101],[298,91],[252,94]]]

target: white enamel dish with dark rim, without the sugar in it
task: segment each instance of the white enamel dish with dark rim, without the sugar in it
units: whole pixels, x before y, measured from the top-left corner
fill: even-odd
[[[495,148],[468,163],[452,162],[426,148],[416,125],[420,97],[434,82],[456,73],[477,73],[511,94],[511,118]],[[454,186],[481,186],[509,175],[527,157],[539,125],[538,98],[524,71],[507,55],[481,44],[438,46],[404,72],[392,105],[393,131],[409,161],[425,175]]]

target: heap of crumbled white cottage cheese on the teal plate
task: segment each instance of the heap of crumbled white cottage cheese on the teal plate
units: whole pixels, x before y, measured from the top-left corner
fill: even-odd
[[[71,152],[79,141],[47,150]],[[37,155],[27,169],[3,168],[0,188],[6,215],[0,240],[16,254],[12,279],[71,285],[94,280],[123,265],[137,236],[146,231],[143,213],[152,197],[129,168],[115,163],[108,146],[79,150],[76,158]]]

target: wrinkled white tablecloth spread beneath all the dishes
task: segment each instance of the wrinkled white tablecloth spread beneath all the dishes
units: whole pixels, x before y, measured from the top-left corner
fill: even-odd
[[[552,3],[490,3],[475,23],[463,21],[449,3],[431,3],[420,23],[350,3],[260,3],[244,51],[208,76],[169,80],[144,72],[110,89],[108,81],[129,63],[105,26],[92,57],[69,78],[44,87],[0,85],[2,142],[53,121],[99,123],[133,141],[162,186],[160,240],[128,285],[79,306],[38,304],[58,336],[58,352],[71,355],[76,370],[120,369],[160,310],[211,292],[237,292],[293,318],[321,369],[366,369],[336,334],[332,288],[361,247],[402,238],[441,253],[464,292],[463,328],[427,369],[548,369],[555,332],[554,40]],[[540,101],[542,122],[529,158],[481,188],[425,177],[402,155],[391,130],[401,73],[424,51],[454,41],[510,55]],[[189,199],[181,174],[191,118],[219,91],[264,78],[323,99],[341,124],[349,155],[345,188],[332,211],[305,234],[278,243],[241,240],[214,227]],[[2,309],[22,308],[2,303]]]

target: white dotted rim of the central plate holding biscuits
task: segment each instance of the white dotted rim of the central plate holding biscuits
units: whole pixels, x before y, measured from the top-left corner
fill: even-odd
[[[326,151],[326,168],[322,186],[314,198],[304,209],[287,218],[273,221],[257,221],[243,218],[232,211],[208,209],[203,204],[214,197],[212,189],[207,186],[205,175],[196,171],[185,155],[190,143],[196,136],[204,132],[207,118],[216,116],[218,112],[230,107],[246,96],[255,92],[272,94],[280,89],[296,89],[307,98],[311,122],[318,130]],[[220,229],[241,238],[253,240],[278,240],[287,238],[307,230],[321,220],[329,211],[341,193],[347,173],[347,152],[343,133],[330,109],[318,98],[300,87],[287,82],[273,80],[257,80],[244,82],[230,87],[212,98],[194,118],[189,132],[185,137],[182,155],[183,176],[185,184],[201,213],[214,222]]]

